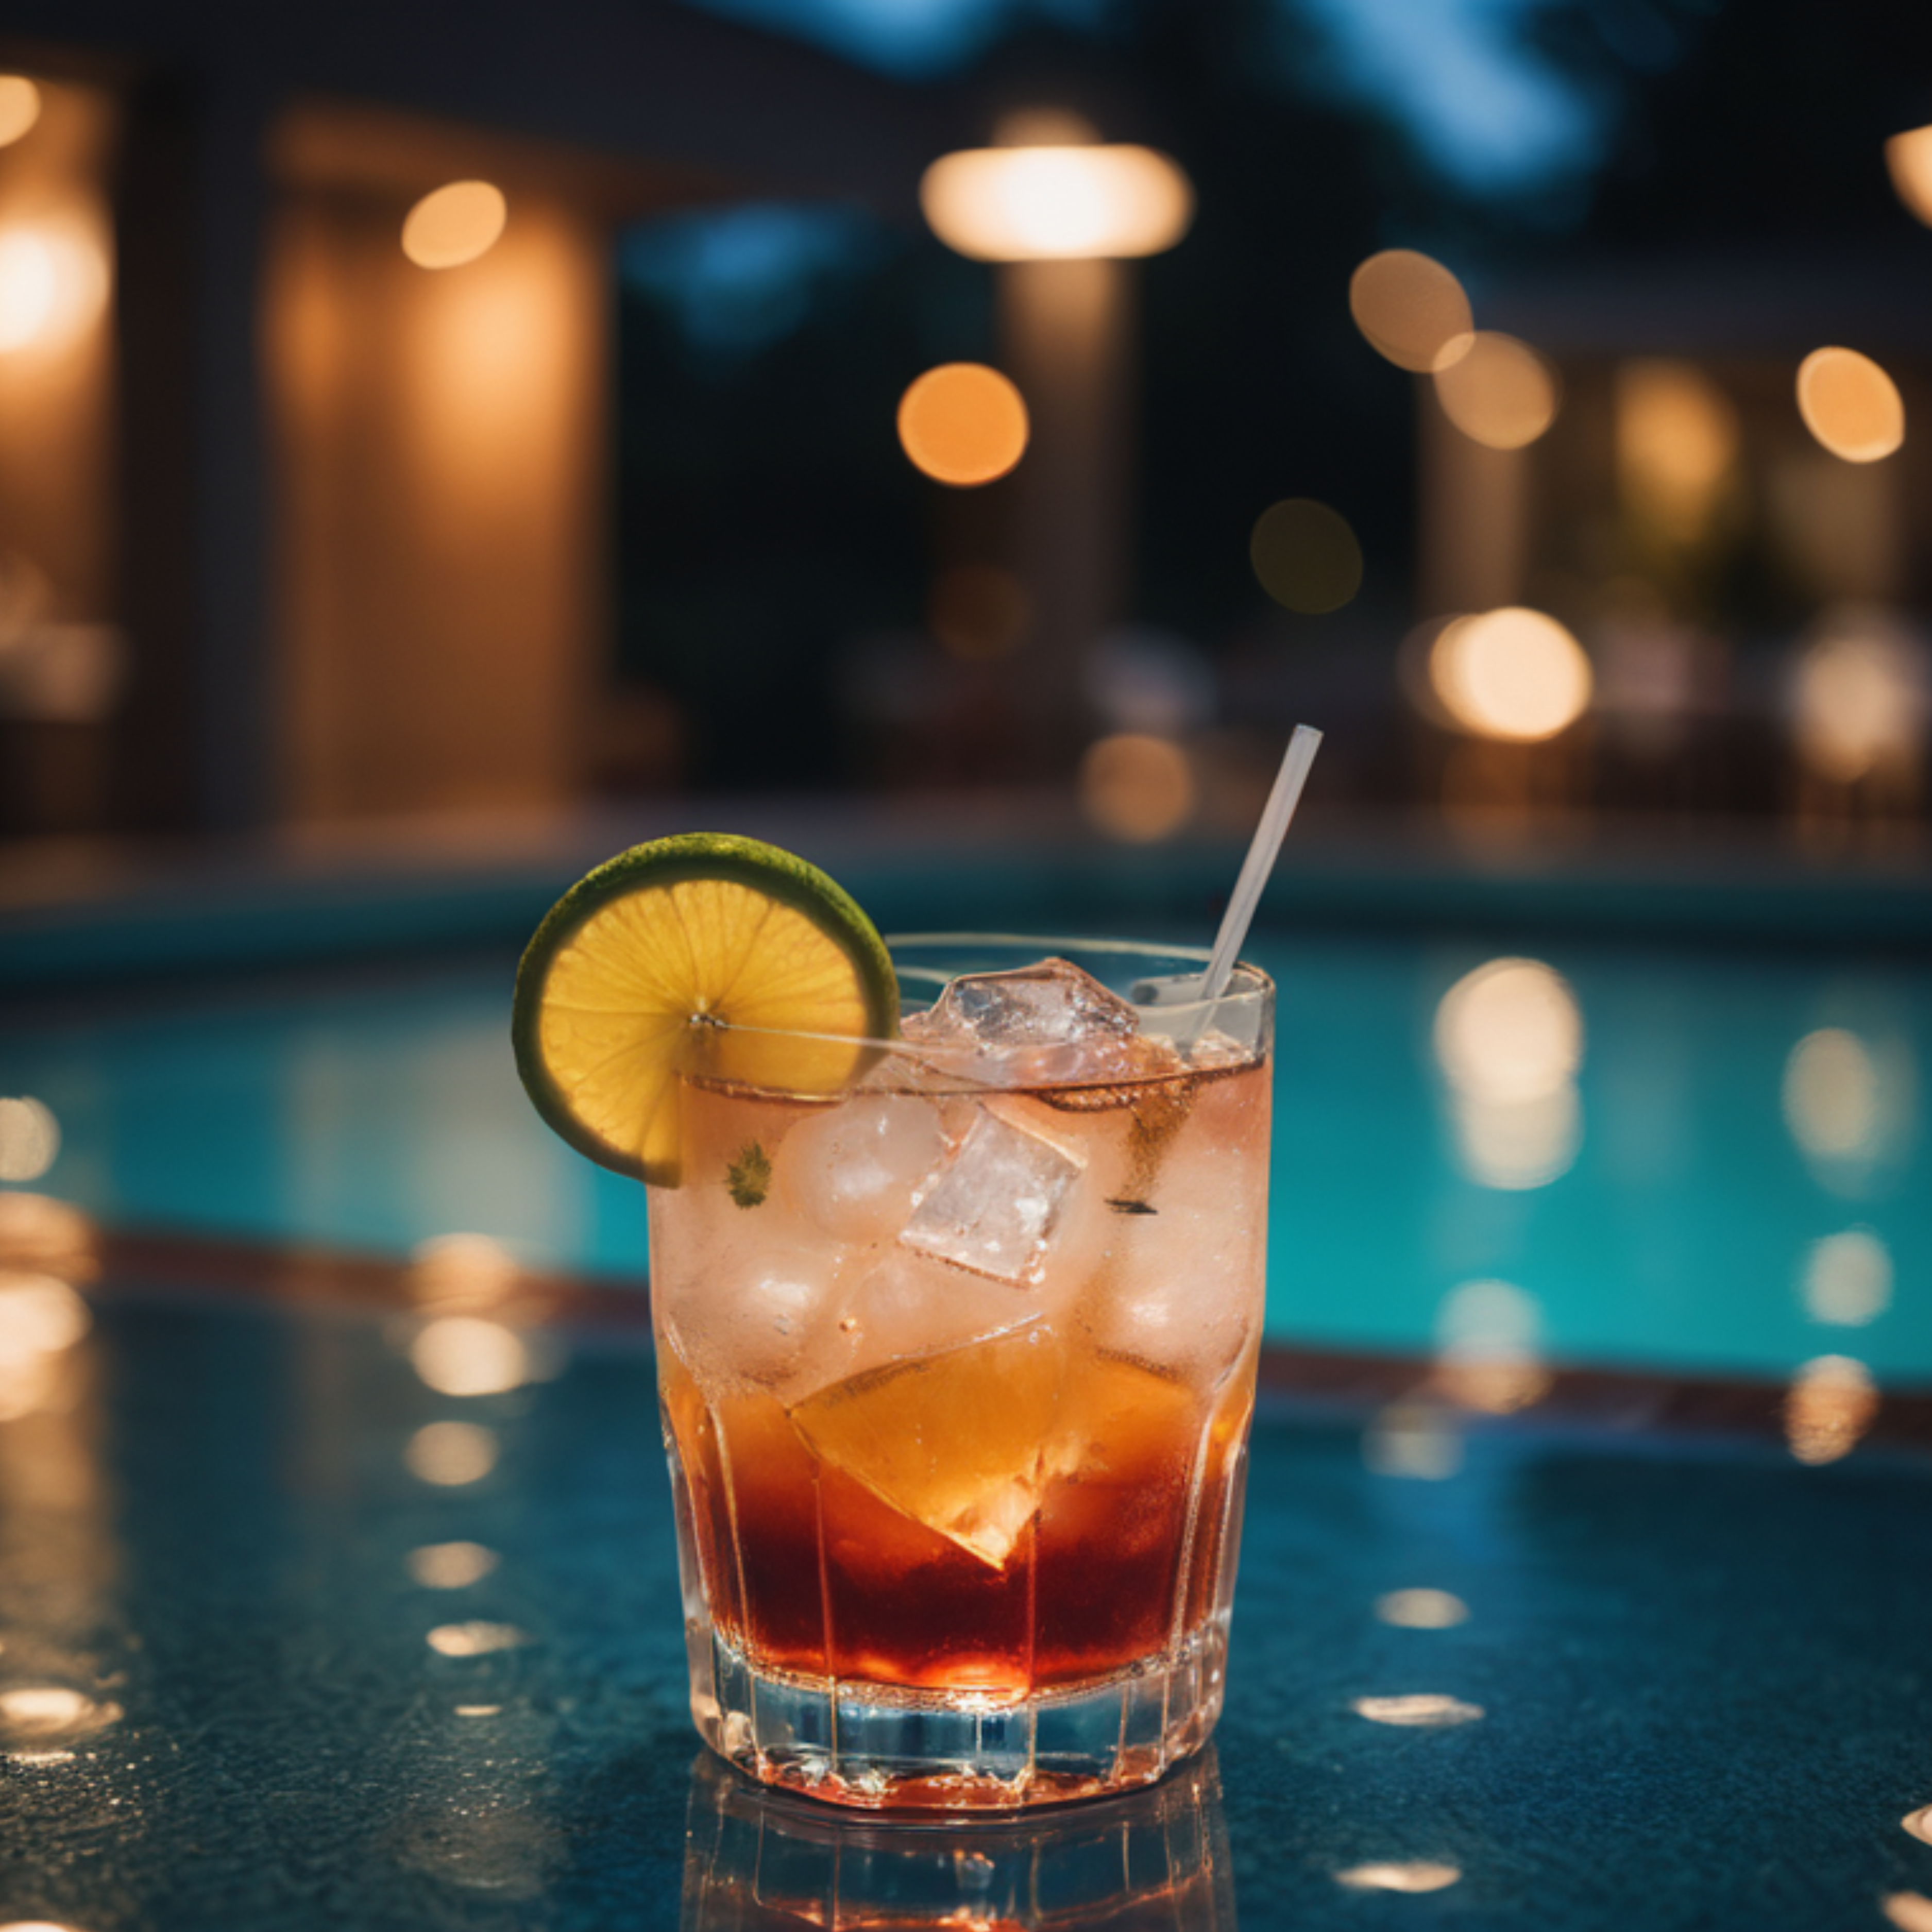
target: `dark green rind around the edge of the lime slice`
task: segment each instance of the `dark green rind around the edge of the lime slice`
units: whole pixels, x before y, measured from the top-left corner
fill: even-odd
[[[680,833],[605,860],[556,900],[524,949],[510,1039],[524,1090],[545,1124],[599,1167],[657,1186],[676,1184],[674,1167],[643,1159],[583,1121],[543,1055],[541,1018],[551,968],[583,925],[634,893],[665,891],[684,881],[734,883],[800,914],[852,962],[866,1007],[864,1037],[891,1039],[898,1032],[898,980],[885,941],[858,900],[808,860],[734,833]],[[655,1016],[659,1032],[665,1018]],[[653,1018],[639,1007],[639,1036],[649,1026]],[[657,1105],[674,1107],[676,1094],[661,1092]]]

